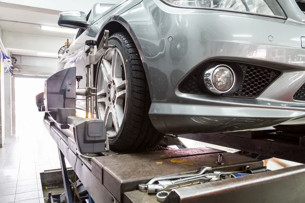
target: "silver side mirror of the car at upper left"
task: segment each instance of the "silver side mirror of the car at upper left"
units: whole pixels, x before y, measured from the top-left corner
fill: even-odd
[[[65,11],[59,14],[58,25],[70,28],[86,29],[90,25],[87,24],[86,14],[80,11]]]

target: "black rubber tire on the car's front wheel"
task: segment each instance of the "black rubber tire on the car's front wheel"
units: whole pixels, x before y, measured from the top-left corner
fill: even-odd
[[[108,43],[115,45],[122,54],[128,79],[123,123],[115,138],[109,139],[110,149],[135,151],[154,146],[164,134],[157,131],[148,117],[151,100],[139,52],[125,32],[114,33]]]

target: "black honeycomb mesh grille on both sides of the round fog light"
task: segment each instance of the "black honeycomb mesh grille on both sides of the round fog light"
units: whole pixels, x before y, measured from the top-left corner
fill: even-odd
[[[243,71],[242,84],[234,93],[226,96],[257,97],[281,75],[280,71],[266,67],[240,63],[239,65]],[[203,92],[197,84],[198,76],[205,68],[206,66],[200,67],[195,73],[186,78],[180,85],[180,91],[184,93],[205,94],[206,92]]]

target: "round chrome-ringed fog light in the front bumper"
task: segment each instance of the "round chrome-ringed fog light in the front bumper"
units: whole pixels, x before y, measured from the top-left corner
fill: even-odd
[[[228,65],[210,67],[204,73],[204,85],[211,92],[224,94],[229,92],[235,83],[234,72]]]

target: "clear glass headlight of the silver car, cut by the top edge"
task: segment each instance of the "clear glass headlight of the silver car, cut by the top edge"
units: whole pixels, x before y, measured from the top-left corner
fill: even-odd
[[[171,6],[249,12],[286,18],[277,0],[163,0]]]

